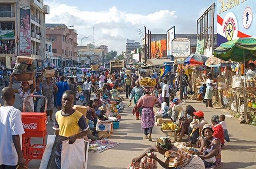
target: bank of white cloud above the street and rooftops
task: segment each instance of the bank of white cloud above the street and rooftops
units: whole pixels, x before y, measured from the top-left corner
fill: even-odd
[[[61,4],[55,0],[44,2],[50,6],[50,14],[46,15],[46,23],[62,23],[67,26],[74,25],[82,44],[93,42],[93,27],[95,45],[108,45],[108,50],[116,50],[120,54],[125,49],[126,39],[141,41],[139,29],[144,31],[147,26],[152,33],[166,33],[175,25],[177,16],[175,11],[160,10],[148,15],[126,13],[118,10],[116,6],[106,11],[91,12],[79,10],[76,6]],[[153,32],[154,30],[154,32]]]

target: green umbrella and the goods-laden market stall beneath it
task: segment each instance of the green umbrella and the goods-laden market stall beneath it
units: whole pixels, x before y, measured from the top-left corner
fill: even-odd
[[[250,122],[250,114],[254,114],[254,93],[255,81],[250,78],[248,74],[242,75],[246,72],[245,62],[249,60],[256,60],[256,39],[254,38],[239,38],[221,44],[214,50],[214,56],[217,58],[234,62],[241,62],[240,75],[232,77],[232,89],[229,90],[228,96],[230,98],[230,108],[236,110],[241,114],[241,122]],[[243,66],[242,66],[243,64]],[[248,73],[248,71],[247,71]],[[251,104],[250,104],[251,103]],[[244,120],[242,120],[244,118]]]

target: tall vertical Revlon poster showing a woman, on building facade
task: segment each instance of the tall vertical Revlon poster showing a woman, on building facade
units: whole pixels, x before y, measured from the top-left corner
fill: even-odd
[[[30,6],[20,4],[20,55],[30,55]]]

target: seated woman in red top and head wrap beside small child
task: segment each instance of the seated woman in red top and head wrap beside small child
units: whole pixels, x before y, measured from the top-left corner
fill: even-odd
[[[213,137],[216,137],[217,139],[220,139],[221,141],[221,146],[224,145],[224,133],[223,133],[223,128],[220,125],[220,119],[218,115],[212,115],[212,129],[213,129]]]

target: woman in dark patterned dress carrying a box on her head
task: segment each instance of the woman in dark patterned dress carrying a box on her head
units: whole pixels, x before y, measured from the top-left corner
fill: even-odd
[[[52,78],[46,78],[46,83],[42,87],[42,94],[47,97],[47,115],[50,115],[52,121],[52,113],[54,107],[54,92],[58,91],[58,87],[51,82]]]

